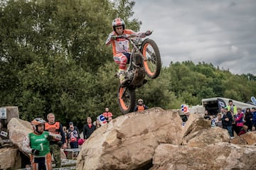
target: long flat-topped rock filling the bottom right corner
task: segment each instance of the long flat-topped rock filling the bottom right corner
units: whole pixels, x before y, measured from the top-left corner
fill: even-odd
[[[256,147],[218,142],[206,147],[162,144],[150,170],[255,169]]]

